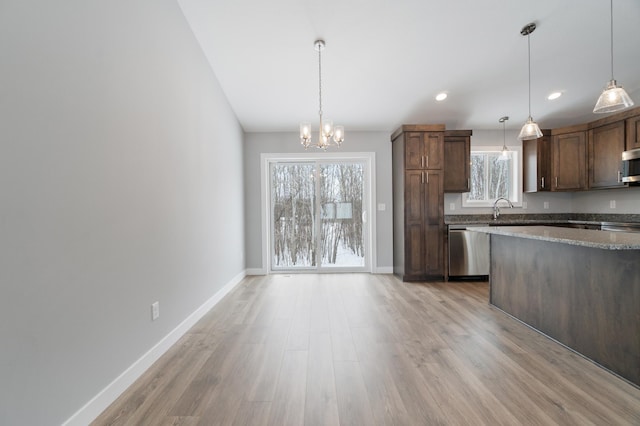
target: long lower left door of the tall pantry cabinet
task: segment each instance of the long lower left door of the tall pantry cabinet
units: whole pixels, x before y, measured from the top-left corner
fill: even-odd
[[[405,276],[415,280],[425,274],[425,184],[424,172],[410,170],[405,172],[404,187],[405,220]]]

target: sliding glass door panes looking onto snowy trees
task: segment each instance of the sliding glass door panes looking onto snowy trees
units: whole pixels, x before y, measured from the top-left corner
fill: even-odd
[[[365,271],[364,161],[270,163],[271,269]]]

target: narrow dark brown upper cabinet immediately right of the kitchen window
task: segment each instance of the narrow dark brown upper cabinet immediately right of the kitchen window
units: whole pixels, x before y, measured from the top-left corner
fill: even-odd
[[[522,190],[551,191],[551,130],[541,138],[522,141]]]

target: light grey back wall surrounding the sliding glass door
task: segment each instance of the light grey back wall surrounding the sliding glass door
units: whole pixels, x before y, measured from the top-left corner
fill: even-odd
[[[292,123],[297,129],[298,123]],[[376,153],[376,203],[385,204],[385,211],[376,211],[376,264],[380,270],[393,268],[393,228],[391,203],[391,140],[387,132],[354,132],[346,129],[346,139],[339,149],[332,152],[375,152]],[[245,136],[245,231],[247,247],[247,268],[266,269],[262,265],[262,228],[260,219],[260,154],[301,153],[298,132],[289,133],[247,133]],[[311,150],[311,148],[309,148]],[[317,152],[314,148],[313,151]]]

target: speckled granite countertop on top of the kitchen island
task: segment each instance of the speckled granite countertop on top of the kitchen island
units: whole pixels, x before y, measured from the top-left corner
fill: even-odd
[[[556,226],[483,226],[469,228],[476,232],[550,241],[605,250],[640,250],[640,234],[561,228]]]

